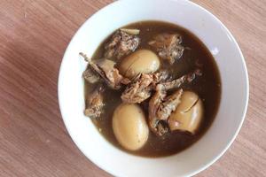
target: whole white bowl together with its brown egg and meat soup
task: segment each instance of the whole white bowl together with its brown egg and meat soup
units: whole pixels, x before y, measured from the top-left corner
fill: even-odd
[[[115,176],[184,176],[221,157],[248,100],[231,33],[188,1],[119,1],[66,49],[59,104],[84,155]]]

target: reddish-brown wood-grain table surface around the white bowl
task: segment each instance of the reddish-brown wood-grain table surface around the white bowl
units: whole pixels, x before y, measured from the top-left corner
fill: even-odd
[[[231,148],[197,176],[266,175],[266,1],[196,0],[239,42],[250,99]],[[0,1],[0,176],[109,176],[79,151],[59,112],[59,65],[82,23],[111,0]]]

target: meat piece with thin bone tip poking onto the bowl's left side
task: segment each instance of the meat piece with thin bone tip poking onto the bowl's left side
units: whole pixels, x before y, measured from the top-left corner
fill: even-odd
[[[89,62],[89,67],[94,73],[97,73],[111,89],[120,89],[121,83],[129,83],[129,79],[124,78],[114,67],[115,62],[109,59],[101,59],[97,62],[92,62],[82,52],[80,55]],[[88,70],[88,69],[87,69]]]

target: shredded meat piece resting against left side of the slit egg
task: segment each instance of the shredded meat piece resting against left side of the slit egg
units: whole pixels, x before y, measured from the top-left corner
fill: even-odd
[[[177,105],[180,104],[182,94],[183,89],[178,89],[174,94],[166,97],[158,108],[157,118],[167,120],[171,113],[176,110]]]

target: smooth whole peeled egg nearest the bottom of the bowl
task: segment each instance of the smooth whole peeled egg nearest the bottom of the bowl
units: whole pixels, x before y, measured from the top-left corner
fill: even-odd
[[[113,133],[127,150],[138,150],[148,139],[145,113],[137,104],[120,104],[113,112]]]

